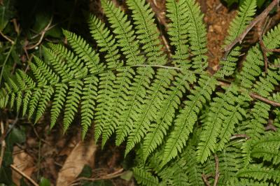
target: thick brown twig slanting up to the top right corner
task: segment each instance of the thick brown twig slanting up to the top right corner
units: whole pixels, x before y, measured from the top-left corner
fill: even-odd
[[[269,6],[267,6],[267,8],[265,8],[265,10],[263,10],[263,12],[258,15],[257,17],[255,17],[255,19],[246,27],[246,29],[239,34],[239,36],[237,36],[237,38],[235,38],[234,41],[232,41],[232,43],[230,43],[229,45],[226,45],[224,50],[225,50],[225,55],[223,57],[223,59],[225,60],[228,57],[228,54],[230,53],[230,50],[232,50],[232,48],[237,44],[237,43],[241,43],[243,41],[243,39],[245,38],[245,36],[248,34],[248,32],[255,26],[255,24],[257,24],[258,22],[260,22],[261,20],[265,19],[265,17],[267,17],[267,15],[269,14],[269,12],[276,6],[279,4],[280,0],[274,0],[272,1],[272,3],[269,4]]]

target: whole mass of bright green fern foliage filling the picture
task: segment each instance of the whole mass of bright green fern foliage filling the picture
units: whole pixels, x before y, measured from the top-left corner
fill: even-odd
[[[221,68],[207,72],[207,29],[194,0],[167,0],[169,48],[145,0],[127,0],[130,15],[102,0],[108,25],[94,15],[97,50],[64,30],[68,45],[51,44],[43,58],[18,71],[1,90],[0,105],[38,122],[50,106],[50,127],[64,131],[80,113],[83,138],[93,124],[102,145],[115,136],[136,152],[134,177],[142,185],[279,185],[280,59],[258,43],[237,69],[235,45]],[[230,24],[229,45],[253,20],[246,0]],[[279,48],[280,25],[263,36]],[[98,51],[98,52],[97,52]]]

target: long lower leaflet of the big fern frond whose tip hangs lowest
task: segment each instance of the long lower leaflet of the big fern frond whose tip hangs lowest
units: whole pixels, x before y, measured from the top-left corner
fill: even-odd
[[[195,90],[190,91],[188,101],[185,101],[186,106],[180,110],[175,120],[174,130],[167,138],[162,164],[167,164],[167,162],[176,157],[186,145],[188,136],[193,131],[193,125],[197,121],[197,114],[200,113],[202,104],[210,99],[215,87],[215,78],[202,76]]]

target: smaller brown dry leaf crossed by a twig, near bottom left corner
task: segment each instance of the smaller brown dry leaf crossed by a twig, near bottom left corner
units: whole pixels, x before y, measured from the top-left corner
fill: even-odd
[[[31,177],[32,173],[36,169],[33,157],[28,155],[25,151],[20,150],[17,146],[13,148],[13,152],[13,165],[25,173],[25,175]],[[21,178],[22,175],[20,175],[20,173],[16,171],[12,172],[12,179],[15,185],[20,185]]]

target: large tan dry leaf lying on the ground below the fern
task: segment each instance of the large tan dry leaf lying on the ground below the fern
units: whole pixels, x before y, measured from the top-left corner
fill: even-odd
[[[94,155],[97,150],[94,140],[79,142],[67,157],[62,169],[58,173],[57,185],[70,185],[83,170],[85,164],[94,163]]]

